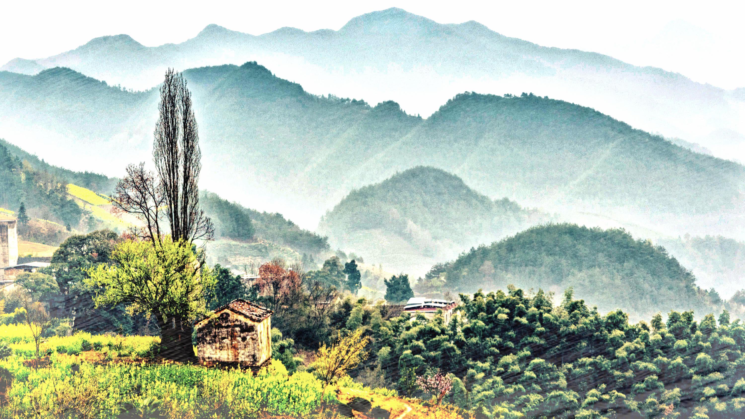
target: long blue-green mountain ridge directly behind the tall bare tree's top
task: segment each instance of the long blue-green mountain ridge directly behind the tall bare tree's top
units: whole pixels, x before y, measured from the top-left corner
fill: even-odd
[[[744,167],[590,108],[466,93],[422,119],[393,102],[309,95],[256,63],[185,76],[200,123],[203,187],[241,201],[262,196],[259,210],[304,226],[355,188],[429,165],[487,196],[551,212],[602,213],[675,235],[745,236],[737,218]],[[124,167],[150,147],[154,91],[124,92],[57,68],[0,72],[0,97],[4,129],[87,170]]]

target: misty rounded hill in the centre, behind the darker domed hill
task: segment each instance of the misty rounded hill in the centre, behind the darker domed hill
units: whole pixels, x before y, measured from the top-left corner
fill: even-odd
[[[352,191],[323,217],[319,231],[337,247],[416,275],[433,260],[545,220],[539,211],[489,199],[451,173],[420,166]]]

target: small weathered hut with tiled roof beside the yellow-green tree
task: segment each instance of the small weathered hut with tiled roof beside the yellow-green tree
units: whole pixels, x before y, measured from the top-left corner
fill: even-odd
[[[272,310],[238,299],[196,324],[203,365],[259,368],[272,356]]]

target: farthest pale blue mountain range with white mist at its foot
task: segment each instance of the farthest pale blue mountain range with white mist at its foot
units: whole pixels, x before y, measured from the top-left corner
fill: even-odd
[[[397,8],[355,17],[339,31],[280,28],[253,36],[209,25],[185,42],[157,47],[127,35],[102,36],[53,57],[12,60],[1,69],[36,74],[64,66],[142,90],[159,83],[169,66],[249,60],[302,83],[309,92],[370,103],[396,100],[410,114],[430,115],[464,91],[534,92],[699,143],[717,156],[745,159],[738,91],[602,54],[542,47],[474,21],[443,25]]]

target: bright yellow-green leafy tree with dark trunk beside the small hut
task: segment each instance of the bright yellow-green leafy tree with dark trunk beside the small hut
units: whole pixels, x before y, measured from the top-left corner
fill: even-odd
[[[95,289],[95,304],[125,304],[131,314],[154,316],[161,336],[161,354],[194,359],[191,322],[206,313],[204,295],[214,277],[202,269],[192,246],[162,237],[159,246],[127,240],[111,255],[113,266],[88,270],[85,282]]]

